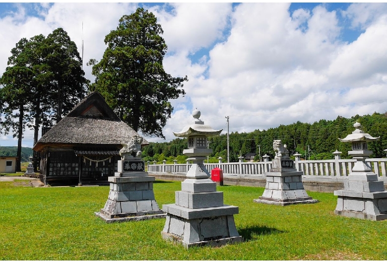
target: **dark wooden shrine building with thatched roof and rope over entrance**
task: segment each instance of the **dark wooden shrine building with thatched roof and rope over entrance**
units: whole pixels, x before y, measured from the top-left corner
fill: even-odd
[[[120,149],[134,135],[139,136],[93,92],[33,147],[40,155],[40,181],[107,182],[117,172]],[[142,146],[147,144],[143,139]]]

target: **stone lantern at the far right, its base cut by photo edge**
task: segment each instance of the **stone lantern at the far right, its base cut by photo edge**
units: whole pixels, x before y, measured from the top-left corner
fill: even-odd
[[[378,181],[378,175],[372,172],[365,162],[372,154],[368,150],[368,141],[378,140],[360,130],[361,125],[356,122],[355,131],[347,135],[342,142],[351,142],[352,151],[348,154],[356,159],[352,172],[344,181],[344,190],[334,191],[337,196],[337,206],[334,213],[346,217],[360,219],[385,220],[387,219],[387,191],[383,181]]]

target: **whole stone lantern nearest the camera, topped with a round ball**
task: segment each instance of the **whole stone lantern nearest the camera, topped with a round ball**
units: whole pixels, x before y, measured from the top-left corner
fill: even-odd
[[[223,203],[223,192],[216,192],[216,183],[203,165],[203,160],[212,149],[207,149],[207,137],[219,135],[200,121],[200,112],[193,112],[194,124],[186,126],[175,136],[188,138],[188,149],[183,154],[193,161],[182,182],[182,191],[175,192],[175,203],[164,204],[167,213],[161,235],[166,240],[180,243],[186,248],[192,246],[221,246],[241,242],[242,237],[234,222],[238,206]]]

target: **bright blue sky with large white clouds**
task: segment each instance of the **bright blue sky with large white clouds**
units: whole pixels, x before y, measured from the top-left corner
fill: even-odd
[[[386,3],[0,3],[0,74],[21,38],[58,27],[81,51],[82,23],[84,62],[100,60],[105,35],[138,6],[164,30],[165,70],[189,78],[167,141],[195,108],[214,129],[226,131],[229,116],[230,132],[387,111]],[[17,140],[0,134],[7,145]]]

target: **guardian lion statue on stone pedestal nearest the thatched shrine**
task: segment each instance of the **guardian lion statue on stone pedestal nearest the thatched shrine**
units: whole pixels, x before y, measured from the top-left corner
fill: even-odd
[[[154,176],[145,172],[141,160],[142,138],[134,136],[120,150],[118,172],[110,176],[110,192],[104,208],[95,212],[106,222],[145,220],[165,217],[153,193]]]

